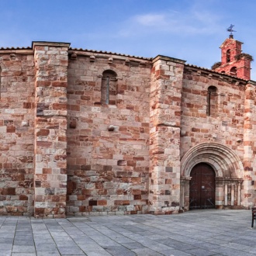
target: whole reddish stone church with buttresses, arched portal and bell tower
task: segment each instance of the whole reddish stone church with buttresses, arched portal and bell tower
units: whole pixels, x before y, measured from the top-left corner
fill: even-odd
[[[70,43],[0,48],[0,215],[250,209],[256,82],[241,47],[227,38],[212,69]]]

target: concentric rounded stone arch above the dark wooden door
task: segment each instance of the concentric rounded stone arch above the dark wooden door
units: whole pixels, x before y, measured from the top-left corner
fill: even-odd
[[[199,163],[209,164],[216,177],[243,178],[243,164],[230,148],[217,143],[202,143],[192,147],[182,157],[181,175],[189,177],[190,171]]]

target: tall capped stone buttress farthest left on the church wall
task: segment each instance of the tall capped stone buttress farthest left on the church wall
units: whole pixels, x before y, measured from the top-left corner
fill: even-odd
[[[35,213],[64,217],[67,196],[67,50],[33,42],[36,68]]]

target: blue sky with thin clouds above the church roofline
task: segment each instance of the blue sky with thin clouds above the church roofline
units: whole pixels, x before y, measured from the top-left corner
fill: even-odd
[[[234,24],[256,58],[254,0],[0,0],[0,47],[71,43],[140,57],[157,54],[210,68]],[[252,62],[251,79],[256,81]]]

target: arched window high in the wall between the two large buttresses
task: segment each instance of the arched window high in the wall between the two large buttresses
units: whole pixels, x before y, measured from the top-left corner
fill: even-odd
[[[101,103],[106,105],[116,104],[116,81],[117,74],[107,70],[102,74]]]

